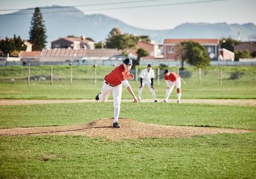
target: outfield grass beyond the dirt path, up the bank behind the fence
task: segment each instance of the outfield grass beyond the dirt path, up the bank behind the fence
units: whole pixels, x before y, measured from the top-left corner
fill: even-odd
[[[49,79],[45,81],[30,81],[26,85],[27,67],[2,67],[0,68],[0,99],[92,99],[101,91],[103,78],[113,67],[97,67],[97,85],[94,85],[94,68],[91,66],[74,66],[73,81],[70,85],[69,67],[54,66],[53,85]],[[139,70],[145,67],[140,67]],[[47,69],[47,72],[45,71]],[[172,71],[177,68],[170,68]],[[182,84],[182,98],[222,98],[222,99],[248,99],[256,98],[256,67],[222,67],[222,85],[219,85],[220,67],[208,67],[202,71],[201,85],[198,84],[198,70],[188,67],[186,70],[192,72],[190,78],[184,78],[186,85]],[[8,72],[6,70],[9,70]],[[34,73],[34,74],[33,74]],[[31,67],[31,76],[48,73],[49,66]],[[11,84],[4,82],[4,78],[9,80],[12,76],[22,74],[25,80]],[[238,75],[239,74],[239,75]],[[236,76],[238,75],[238,76]],[[238,79],[231,79],[237,77]],[[13,77],[14,78],[14,77]],[[20,82],[20,83],[19,83]],[[130,81],[135,94],[138,94],[139,82]],[[166,93],[166,83],[163,79],[157,85],[154,81],[157,98],[163,99]],[[131,98],[127,90],[123,88],[123,98]],[[110,95],[110,98],[111,95]],[[143,90],[142,98],[152,98],[148,87]],[[176,98],[176,89],[173,90],[170,98]]]

